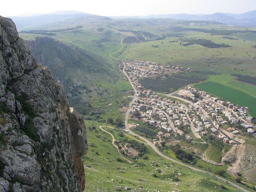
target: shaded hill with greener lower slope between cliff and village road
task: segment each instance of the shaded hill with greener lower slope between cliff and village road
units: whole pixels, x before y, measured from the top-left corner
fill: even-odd
[[[98,121],[108,116],[122,117],[119,105],[129,103],[129,98],[124,96],[131,86],[107,60],[48,37],[37,37],[26,43],[37,62],[48,66],[62,82],[70,104],[80,113]]]

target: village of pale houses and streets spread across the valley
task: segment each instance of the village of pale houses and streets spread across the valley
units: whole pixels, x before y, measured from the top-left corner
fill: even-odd
[[[244,140],[238,138],[239,134],[254,135],[252,117],[247,116],[247,107],[239,107],[220,100],[190,85],[182,90],[162,95],[144,90],[138,81],[138,78],[142,77],[163,76],[167,70],[177,73],[191,69],[137,60],[126,62],[125,71],[138,90],[132,104],[132,118],[138,118],[144,124],[157,128],[156,135],[160,138],[169,138],[174,133],[189,141],[196,138],[205,143],[202,137],[212,134],[226,144],[240,145]],[[130,124],[130,128],[137,126],[139,124]],[[191,129],[193,137],[184,131],[186,128]]]

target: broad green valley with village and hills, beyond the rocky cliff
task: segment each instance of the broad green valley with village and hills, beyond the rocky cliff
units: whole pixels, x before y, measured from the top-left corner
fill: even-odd
[[[36,28],[63,28],[19,35],[84,115],[85,191],[255,189],[255,149],[230,151],[256,143],[256,87],[233,76],[256,75],[256,28],[100,16]]]

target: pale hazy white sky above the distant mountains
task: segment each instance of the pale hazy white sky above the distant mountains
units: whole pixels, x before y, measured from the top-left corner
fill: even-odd
[[[3,0],[0,15],[76,10],[102,16],[144,16],[175,13],[244,13],[254,9],[256,0]]]

